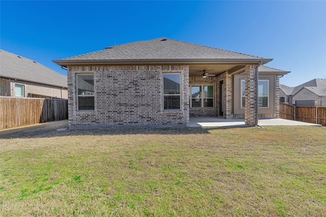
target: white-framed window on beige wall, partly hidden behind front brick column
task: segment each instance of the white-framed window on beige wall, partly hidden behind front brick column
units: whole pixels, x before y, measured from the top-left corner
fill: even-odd
[[[246,82],[241,80],[241,108],[246,105]],[[258,107],[268,107],[268,80],[258,80]]]

